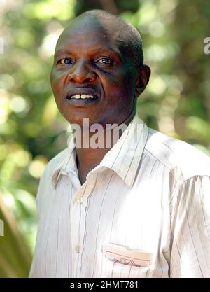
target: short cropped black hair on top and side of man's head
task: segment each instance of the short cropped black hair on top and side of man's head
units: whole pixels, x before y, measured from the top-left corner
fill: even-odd
[[[85,11],[78,15],[76,19],[83,18],[84,16],[93,16],[99,20],[111,20],[113,22],[113,33],[116,33],[115,29],[117,29],[120,36],[123,36],[123,40],[120,39],[120,43],[125,56],[132,58],[137,68],[144,64],[141,35],[130,22],[123,20],[118,15],[113,15],[100,9]]]

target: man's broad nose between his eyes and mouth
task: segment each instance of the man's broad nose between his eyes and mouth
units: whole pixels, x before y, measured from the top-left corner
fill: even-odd
[[[90,68],[85,60],[79,60],[71,67],[69,72],[69,81],[72,83],[90,83],[95,81],[96,74]]]

